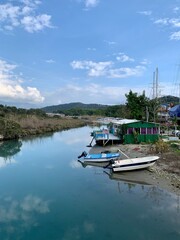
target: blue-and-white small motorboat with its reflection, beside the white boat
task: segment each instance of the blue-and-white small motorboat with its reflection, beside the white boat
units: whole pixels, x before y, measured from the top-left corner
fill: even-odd
[[[107,167],[107,166],[110,166],[114,162],[114,160],[117,160],[120,157],[120,153],[105,151],[101,153],[88,154],[84,151],[80,156],[78,156],[79,159],[82,157],[84,160],[83,161],[84,165]],[[79,160],[79,162],[81,161]]]

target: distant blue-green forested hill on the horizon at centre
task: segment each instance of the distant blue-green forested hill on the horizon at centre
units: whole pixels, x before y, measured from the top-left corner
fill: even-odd
[[[101,105],[101,104],[84,104],[80,102],[75,102],[75,103],[66,103],[66,104],[47,106],[42,108],[42,110],[45,111],[46,113],[56,113],[56,112],[63,112],[63,111],[72,110],[72,109],[96,110],[96,109],[104,109],[106,107],[108,106]]]

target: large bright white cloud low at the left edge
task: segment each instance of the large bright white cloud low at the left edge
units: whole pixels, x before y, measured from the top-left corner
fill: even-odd
[[[23,87],[20,77],[14,74],[16,65],[0,60],[0,100],[12,102],[42,103],[44,97],[35,87]]]

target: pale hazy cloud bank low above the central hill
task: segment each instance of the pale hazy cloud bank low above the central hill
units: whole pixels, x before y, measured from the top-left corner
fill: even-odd
[[[142,93],[146,88],[140,84],[132,87],[132,91]],[[56,92],[46,96],[48,104],[56,104],[58,101],[61,103],[68,102],[84,102],[84,103],[99,103],[99,104],[119,104],[124,103],[126,98],[125,94],[128,93],[130,88],[128,86],[104,86],[101,84],[88,83],[88,84],[68,84],[62,88],[57,89]]]

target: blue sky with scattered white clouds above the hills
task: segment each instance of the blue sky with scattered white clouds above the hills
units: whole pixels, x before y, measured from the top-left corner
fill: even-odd
[[[180,97],[180,0],[0,0],[0,104]]]

